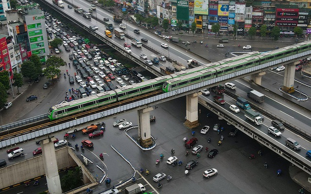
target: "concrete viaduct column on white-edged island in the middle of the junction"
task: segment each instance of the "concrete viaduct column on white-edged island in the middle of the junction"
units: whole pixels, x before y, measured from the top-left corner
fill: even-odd
[[[153,144],[150,130],[150,111],[152,107],[139,110],[138,113],[138,139],[142,147],[150,147]]]

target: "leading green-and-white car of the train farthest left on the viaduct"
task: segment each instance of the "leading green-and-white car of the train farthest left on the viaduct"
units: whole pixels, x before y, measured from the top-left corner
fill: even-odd
[[[63,101],[60,104],[52,106],[49,110],[50,120],[58,119],[71,114],[88,111],[117,101],[115,91],[99,93],[97,95],[84,97],[70,102]]]

